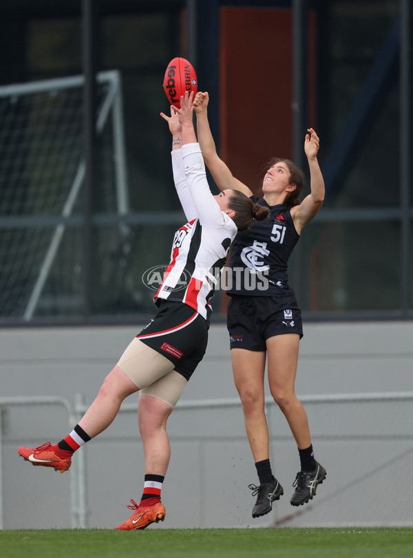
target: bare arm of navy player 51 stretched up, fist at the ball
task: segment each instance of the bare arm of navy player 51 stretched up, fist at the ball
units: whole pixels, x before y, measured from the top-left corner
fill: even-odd
[[[218,157],[208,122],[208,101],[209,95],[207,92],[198,92],[193,100],[193,109],[196,113],[198,142],[202,149],[202,156],[204,157],[205,164],[207,164],[213,180],[215,180],[220,191],[226,189],[240,190],[244,194],[251,196],[253,193],[248,186],[242,184],[240,180],[237,180],[224,161]]]

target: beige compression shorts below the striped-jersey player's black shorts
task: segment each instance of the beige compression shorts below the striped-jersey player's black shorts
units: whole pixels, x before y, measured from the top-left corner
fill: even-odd
[[[187,379],[173,369],[171,361],[136,338],[119,358],[118,367],[140,389],[140,396],[155,397],[171,407],[187,385]]]

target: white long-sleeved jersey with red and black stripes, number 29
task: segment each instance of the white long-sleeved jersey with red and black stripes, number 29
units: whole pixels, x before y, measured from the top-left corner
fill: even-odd
[[[181,301],[209,321],[210,299],[237,226],[209,190],[199,144],[185,144],[171,155],[173,179],[188,222],[175,233],[171,261],[154,299]]]

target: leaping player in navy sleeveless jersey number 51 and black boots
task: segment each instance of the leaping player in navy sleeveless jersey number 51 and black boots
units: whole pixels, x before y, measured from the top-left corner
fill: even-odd
[[[198,141],[204,160],[219,189],[234,189],[270,210],[270,219],[254,222],[240,232],[231,246],[232,283],[227,325],[235,386],[242,400],[248,442],[253,453],[259,486],[250,484],[253,517],[269,513],[284,489],[273,476],[269,460],[269,436],[264,409],[264,370],[268,358],[268,383],[282,410],[299,451],[300,471],[290,504],[305,504],[315,495],[326,470],[314,458],[308,418],[295,395],[295,375],[302,337],[301,310],[288,285],[288,258],[301,230],[317,215],[324,200],[324,180],[317,161],[319,138],[308,129],[304,151],[310,168],[310,194],[299,201],[304,173],[293,162],[275,158],[262,182],[263,197],[235,178],[215,149],[207,117],[208,94],[198,92],[194,109]]]

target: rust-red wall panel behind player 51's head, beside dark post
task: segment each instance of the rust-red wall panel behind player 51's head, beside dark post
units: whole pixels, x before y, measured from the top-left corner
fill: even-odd
[[[313,14],[309,21],[308,125],[317,129]],[[269,159],[293,157],[292,23],[291,10],[220,8],[220,156],[254,193]]]

